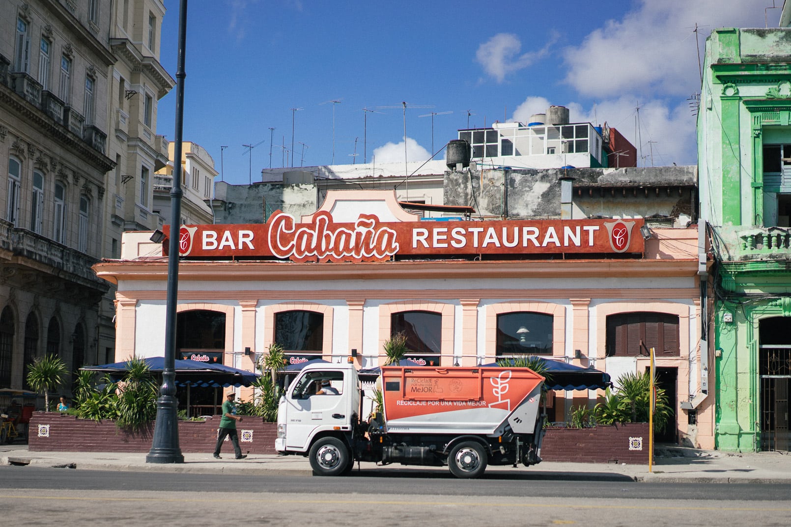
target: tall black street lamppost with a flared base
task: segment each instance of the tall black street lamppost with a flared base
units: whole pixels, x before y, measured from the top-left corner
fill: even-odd
[[[170,188],[170,240],[168,245],[168,300],[165,316],[165,370],[157,397],[157,422],[146,463],[184,463],[179,446],[176,399],[176,300],[179,291],[181,226],[181,148],[184,130],[184,51],[187,44],[187,0],[179,5],[179,59],[176,66],[176,138],[173,146],[173,181]]]

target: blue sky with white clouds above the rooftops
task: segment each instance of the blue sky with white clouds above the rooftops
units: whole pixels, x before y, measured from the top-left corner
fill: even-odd
[[[245,184],[260,180],[270,159],[273,168],[289,166],[292,155],[295,166],[374,155],[403,161],[402,101],[411,160],[456,138],[467,119],[469,127],[527,122],[561,104],[573,122],[618,128],[642,151],[641,165],[691,165],[695,25],[702,54],[713,28],[763,28],[767,20],[777,27],[780,9],[767,5],[772,0],[193,1],[184,140],[203,146],[226,181]],[[179,2],[165,7],[161,63],[175,78]],[[175,106],[173,89],[159,101],[157,121],[170,140]],[[244,144],[257,144],[252,159]],[[220,146],[228,146],[222,156]]]

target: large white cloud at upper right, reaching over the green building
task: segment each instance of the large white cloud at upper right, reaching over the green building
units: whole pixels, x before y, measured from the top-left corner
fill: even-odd
[[[763,27],[763,0],[642,0],[563,53],[566,82],[591,97],[623,93],[689,95],[700,89],[701,53],[713,28]]]

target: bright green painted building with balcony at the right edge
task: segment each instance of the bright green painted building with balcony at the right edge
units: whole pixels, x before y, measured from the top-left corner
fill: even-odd
[[[789,450],[791,28],[722,28],[706,43],[698,172],[715,445]],[[710,379],[711,380],[711,379]]]

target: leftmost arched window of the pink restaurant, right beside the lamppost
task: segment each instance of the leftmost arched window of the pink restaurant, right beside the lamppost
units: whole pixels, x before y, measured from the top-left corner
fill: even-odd
[[[225,353],[225,313],[208,309],[178,313],[176,350],[178,351],[176,358],[200,359],[212,364],[222,364]]]

